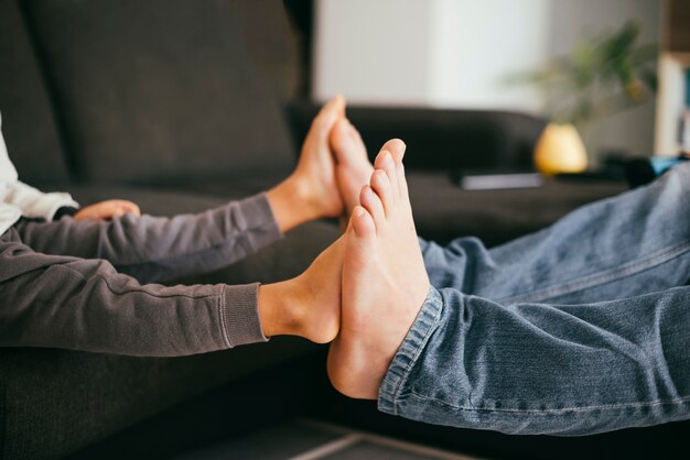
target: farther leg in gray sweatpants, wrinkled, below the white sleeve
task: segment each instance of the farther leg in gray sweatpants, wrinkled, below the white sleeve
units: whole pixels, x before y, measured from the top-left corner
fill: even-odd
[[[140,283],[218,270],[281,238],[266,195],[172,218],[125,215],[112,221],[21,221],[35,252],[104,259]]]

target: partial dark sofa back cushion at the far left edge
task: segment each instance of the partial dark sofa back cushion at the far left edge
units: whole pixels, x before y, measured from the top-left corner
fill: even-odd
[[[20,179],[63,183],[69,178],[67,157],[19,1],[0,0],[2,133]]]

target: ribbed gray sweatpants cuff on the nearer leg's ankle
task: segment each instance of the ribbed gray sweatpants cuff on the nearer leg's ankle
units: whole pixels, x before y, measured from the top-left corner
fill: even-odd
[[[268,341],[259,318],[259,283],[224,286],[219,316],[228,348]]]

